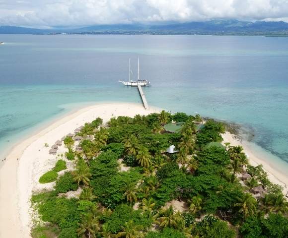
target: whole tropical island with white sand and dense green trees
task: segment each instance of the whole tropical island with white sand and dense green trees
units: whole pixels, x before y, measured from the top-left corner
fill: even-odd
[[[1,168],[0,236],[286,238],[287,183],[225,127],[127,103],[58,119]]]

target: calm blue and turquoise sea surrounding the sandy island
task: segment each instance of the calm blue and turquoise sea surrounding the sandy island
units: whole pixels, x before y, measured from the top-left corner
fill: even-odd
[[[129,58],[137,78],[139,57],[150,105],[240,123],[288,172],[288,38],[0,35],[0,42],[2,154],[81,105],[141,103],[136,88],[118,82],[129,77]]]

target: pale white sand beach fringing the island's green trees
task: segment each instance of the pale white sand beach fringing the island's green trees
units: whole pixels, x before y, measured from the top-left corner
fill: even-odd
[[[40,184],[38,179],[45,172],[51,170],[59,159],[57,155],[49,155],[48,152],[55,141],[68,133],[73,133],[75,128],[97,117],[102,118],[103,122],[107,122],[113,116],[133,117],[136,114],[147,115],[158,111],[159,109],[156,108],[144,110],[141,104],[97,104],[58,119],[15,146],[0,169],[0,238],[30,237],[32,191],[51,188],[54,185],[54,183]],[[223,138],[224,142],[230,142],[231,145],[241,144],[230,133],[223,134]],[[45,147],[45,143],[48,143],[49,147]],[[242,142],[241,145],[249,155],[250,163],[252,165],[263,164],[272,182],[283,186],[288,184],[288,177],[257,157],[248,144]],[[62,145],[57,154],[65,151],[65,147]],[[68,163],[67,166],[70,167],[72,164]]]

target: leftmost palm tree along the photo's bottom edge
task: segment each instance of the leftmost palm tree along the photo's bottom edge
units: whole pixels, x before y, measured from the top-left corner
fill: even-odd
[[[100,230],[98,218],[94,217],[92,213],[85,214],[81,217],[81,222],[78,223],[78,236],[83,234],[88,235],[88,238],[95,238],[96,232]]]

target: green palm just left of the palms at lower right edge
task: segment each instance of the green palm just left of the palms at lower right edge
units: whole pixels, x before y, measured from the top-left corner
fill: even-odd
[[[239,207],[239,212],[243,214],[243,223],[244,218],[256,213],[256,205],[257,201],[250,193],[245,193],[240,202],[234,204],[234,207]]]

